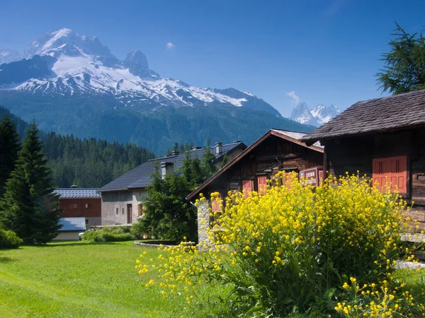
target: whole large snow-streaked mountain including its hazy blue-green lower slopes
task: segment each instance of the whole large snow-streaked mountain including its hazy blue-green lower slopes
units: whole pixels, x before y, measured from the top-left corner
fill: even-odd
[[[22,55],[0,50],[2,62],[0,104],[44,131],[130,141],[162,154],[174,143],[250,144],[270,128],[314,128],[251,93],[162,77],[140,51],[121,61],[97,37],[66,28],[39,37]]]

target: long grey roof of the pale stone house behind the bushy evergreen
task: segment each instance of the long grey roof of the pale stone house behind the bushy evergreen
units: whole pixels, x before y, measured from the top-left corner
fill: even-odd
[[[245,144],[242,142],[228,143],[223,145],[222,153],[215,155],[218,159],[228,153],[229,151],[234,150],[235,148],[242,146],[246,148]],[[215,146],[211,147],[211,152],[214,153]],[[203,155],[204,149],[194,149],[189,151],[191,155],[196,155],[198,158]],[[157,163],[174,163],[174,169],[179,169],[183,165],[183,160],[186,156],[186,153],[181,153],[179,155],[170,155],[168,157],[155,158],[148,160],[142,165],[135,167],[133,170],[126,172],[124,175],[118,177],[117,179],[109,182],[108,184],[98,189],[98,192],[108,192],[108,191],[118,191],[118,190],[128,190],[128,189],[141,189],[148,187],[152,181],[152,174],[155,172],[155,165]]]

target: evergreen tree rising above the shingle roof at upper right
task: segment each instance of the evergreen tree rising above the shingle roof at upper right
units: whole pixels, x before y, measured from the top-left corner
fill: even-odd
[[[391,50],[382,54],[384,69],[376,74],[380,88],[393,94],[425,89],[425,38],[395,24]]]

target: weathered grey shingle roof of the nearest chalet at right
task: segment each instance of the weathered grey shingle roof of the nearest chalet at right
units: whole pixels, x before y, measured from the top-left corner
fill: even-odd
[[[301,141],[425,126],[425,90],[356,102]]]

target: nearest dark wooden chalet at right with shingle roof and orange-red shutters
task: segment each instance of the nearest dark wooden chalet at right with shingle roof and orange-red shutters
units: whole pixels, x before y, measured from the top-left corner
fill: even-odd
[[[380,185],[387,179],[425,210],[425,90],[357,102],[301,141],[320,141],[331,175],[359,172]]]

